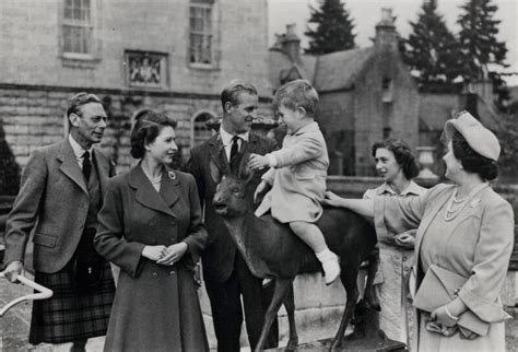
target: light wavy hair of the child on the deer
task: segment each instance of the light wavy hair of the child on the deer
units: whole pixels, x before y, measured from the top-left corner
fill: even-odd
[[[279,106],[295,110],[303,107],[307,116],[315,117],[318,105],[318,93],[307,80],[295,80],[282,85],[273,97],[273,107]]]

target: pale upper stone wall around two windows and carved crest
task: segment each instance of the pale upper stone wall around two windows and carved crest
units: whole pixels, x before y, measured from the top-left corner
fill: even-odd
[[[189,62],[190,0],[91,0],[90,57],[62,52],[62,3],[0,1],[0,83],[121,89],[127,86],[126,50],[166,55],[166,91],[213,94],[243,78],[271,92],[268,80],[267,0],[214,1],[213,63]]]

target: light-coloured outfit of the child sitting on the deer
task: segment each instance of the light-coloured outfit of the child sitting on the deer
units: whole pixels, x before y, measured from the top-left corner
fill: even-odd
[[[329,157],[317,122],[311,122],[293,134],[286,134],[282,149],[271,153],[276,166],[262,178],[272,185],[256,211],[261,216],[271,209],[272,216],[282,223],[316,222],[322,214]]]

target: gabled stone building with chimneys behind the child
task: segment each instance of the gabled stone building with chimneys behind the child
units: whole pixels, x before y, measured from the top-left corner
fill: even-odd
[[[314,57],[302,56],[299,43],[293,25],[278,36],[270,48],[270,80],[274,89],[297,78],[313,82],[330,174],[373,175],[370,145],[384,138],[417,146],[419,93],[400,58],[390,10],[382,11],[370,47]]]

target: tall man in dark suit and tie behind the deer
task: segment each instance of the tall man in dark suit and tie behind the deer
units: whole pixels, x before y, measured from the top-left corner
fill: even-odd
[[[236,173],[245,153],[263,155],[275,150],[276,143],[250,132],[259,102],[254,85],[233,80],[222,91],[221,102],[223,119],[220,131],[191,150],[187,169],[195,175],[201,203],[204,206],[209,240],[202,254],[202,266],[217,338],[217,351],[233,352],[239,351],[243,310],[248,341],[252,349],[256,347],[271,292],[264,292],[262,280],[251,274],[228,230],[215,213],[212,198],[222,176],[231,172]],[[256,173],[247,185],[245,197],[250,204],[254,203],[254,191],[261,180],[261,174]],[[266,348],[276,347],[278,335],[275,320]]]

